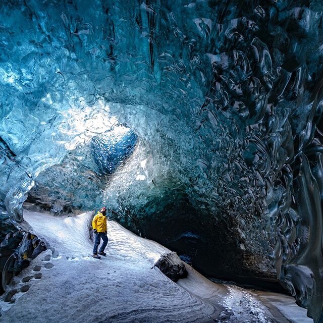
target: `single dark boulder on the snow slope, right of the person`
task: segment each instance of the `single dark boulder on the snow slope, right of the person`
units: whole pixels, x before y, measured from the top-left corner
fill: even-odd
[[[187,277],[185,264],[176,252],[162,254],[153,267],[159,268],[161,273],[166,275],[173,282],[177,282],[180,278]]]

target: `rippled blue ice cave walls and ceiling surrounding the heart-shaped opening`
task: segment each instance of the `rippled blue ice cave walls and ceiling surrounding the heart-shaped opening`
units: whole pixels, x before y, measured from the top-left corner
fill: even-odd
[[[4,1],[0,238],[29,191],[58,214],[104,203],[206,274],[277,274],[322,321],[322,11]],[[116,125],[136,144],[104,173],[92,138]]]

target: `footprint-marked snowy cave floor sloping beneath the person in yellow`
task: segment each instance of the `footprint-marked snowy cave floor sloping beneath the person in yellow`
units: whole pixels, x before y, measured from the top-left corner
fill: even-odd
[[[7,286],[1,322],[313,322],[289,296],[212,283],[189,265],[188,277],[172,282],[151,269],[169,250],[113,221],[107,256],[94,259],[91,213],[65,218],[25,210],[24,218],[51,249]]]

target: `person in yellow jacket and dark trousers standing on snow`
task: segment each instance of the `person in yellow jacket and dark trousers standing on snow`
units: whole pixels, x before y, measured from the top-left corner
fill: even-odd
[[[93,258],[100,259],[101,257],[98,255],[106,256],[106,253],[104,252],[104,248],[107,245],[107,228],[106,228],[106,208],[103,206],[99,212],[96,213],[96,216],[92,220],[92,228],[93,232],[95,233],[95,243],[93,248]],[[100,244],[100,240],[103,240],[103,244],[101,245],[101,248],[99,249],[99,252],[97,252],[97,247]]]

